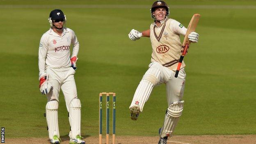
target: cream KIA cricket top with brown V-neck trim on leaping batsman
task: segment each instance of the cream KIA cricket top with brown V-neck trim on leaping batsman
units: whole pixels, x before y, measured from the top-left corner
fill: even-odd
[[[150,25],[150,40],[152,45],[151,62],[159,62],[162,66],[176,71],[181,56],[182,43],[180,35],[185,36],[187,28],[178,21],[166,18],[158,27]],[[182,61],[181,68],[185,67]]]

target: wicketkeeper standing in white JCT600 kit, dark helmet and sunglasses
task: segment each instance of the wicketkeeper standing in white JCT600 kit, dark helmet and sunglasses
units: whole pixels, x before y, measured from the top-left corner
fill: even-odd
[[[50,30],[39,43],[38,66],[40,91],[47,97],[46,121],[51,144],[61,143],[58,126],[59,90],[61,89],[69,112],[69,144],[85,144],[81,137],[81,103],[75,86],[75,69],[79,42],[75,32],[67,27],[66,16],[60,9],[50,12]],[[73,45],[72,56],[70,48]]]

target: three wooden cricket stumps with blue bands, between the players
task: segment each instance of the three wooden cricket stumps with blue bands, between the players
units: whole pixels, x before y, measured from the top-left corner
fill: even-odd
[[[115,144],[116,134],[116,93],[113,92],[102,92],[99,94],[99,144],[102,144],[102,96],[106,95],[106,144],[109,144],[109,96],[113,96],[113,134],[112,144]]]

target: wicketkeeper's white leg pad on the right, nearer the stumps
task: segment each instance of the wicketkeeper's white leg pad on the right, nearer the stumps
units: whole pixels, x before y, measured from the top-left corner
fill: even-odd
[[[81,102],[78,98],[72,99],[69,104],[69,123],[71,126],[69,137],[75,139],[77,135],[81,135]]]

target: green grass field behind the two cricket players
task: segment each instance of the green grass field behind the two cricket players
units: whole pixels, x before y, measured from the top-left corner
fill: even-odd
[[[82,102],[82,135],[98,135],[98,93],[103,91],[117,93],[117,135],[158,135],[167,108],[165,85],[155,87],[138,121],[130,120],[128,110],[151,58],[150,40],[130,41],[128,33],[133,28],[149,28],[153,1],[56,3],[59,2],[0,1],[0,126],[6,128],[6,137],[48,136],[43,117],[46,97],[38,88],[38,45],[41,35],[49,29],[48,15],[55,8],[64,11],[67,27],[75,31],[80,42],[75,80]],[[185,57],[185,106],[175,135],[256,134],[256,58],[253,55],[256,53],[256,2],[171,0],[167,3],[173,7],[170,17],[185,26],[194,13],[201,14],[197,27],[199,43],[192,44]],[[10,5],[20,6],[11,8]],[[40,8],[41,5],[48,6]],[[252,7],[180,9],[176,5]],[[69,133],[62,93],[59,129],[62,136]]]

